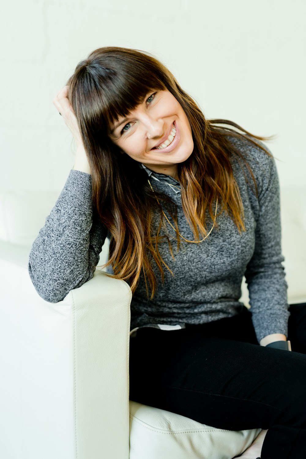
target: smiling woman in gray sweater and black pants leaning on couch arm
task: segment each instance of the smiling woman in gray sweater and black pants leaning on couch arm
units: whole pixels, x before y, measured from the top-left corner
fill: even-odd
[[[124,48],[93,51],[54,104],[77,151],[30,253],[39,295],[91,279],[108,233],[108,273],[133,293],[130,398],[262,428],[243,458],[302,458],[306,308],[287,304],[267,139],[206,120],[160,62]]]

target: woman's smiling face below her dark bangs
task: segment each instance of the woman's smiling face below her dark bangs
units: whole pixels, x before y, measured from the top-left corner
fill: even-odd
[[[122,153],[161,174],[175,177],[177,164],[193,151],[191,125],[168,90],[146,95],[126,118],[119,118],[113,129],[109,137]]]

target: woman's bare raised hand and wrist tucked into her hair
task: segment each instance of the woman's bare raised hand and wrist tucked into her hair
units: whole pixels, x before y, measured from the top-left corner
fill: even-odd
[[[91,174],[86,151],[84,149],[80,130],[77,125],[76,116],[73,113],[67,97],[68,89],[69,86],[64,86],[64,88],[56,94],[55,98],[53,99],[53,103],[63,117],[66,126],[71,130],[74,140],[76,141],[76,161],[73,168],[82,172],[86,172],[87,174]]]

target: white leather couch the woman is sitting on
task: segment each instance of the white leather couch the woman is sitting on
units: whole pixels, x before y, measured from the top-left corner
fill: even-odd
[[[28,254],[57,193],[0,193],[0,457],[230,459],[260,429],[224,431],[129,401],[129,286],[96,270],[45,302]],[[306,189],[282,190],[289,302],[306,301]],[[107,255],[107,244],[100,260]],[[103,292],[103,293],[101,293]],[[247,291],[243,286],[243,299]]]

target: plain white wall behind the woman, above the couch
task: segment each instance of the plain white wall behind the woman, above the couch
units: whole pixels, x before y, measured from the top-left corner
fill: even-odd
[[[95,48],[146,50],[202,107],[277,134],[282,186],[305,183],[304,0],[13,0],[0,6],[0,190],[61,190],[72,136],[52,100]]]

